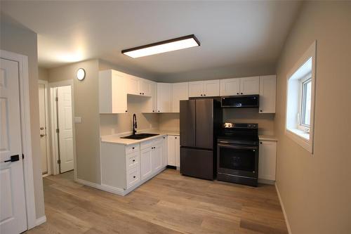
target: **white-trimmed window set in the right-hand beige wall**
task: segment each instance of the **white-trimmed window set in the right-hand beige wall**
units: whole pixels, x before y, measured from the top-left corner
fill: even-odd
[[[286,135],[312,152],[315,42],[287,76]]]

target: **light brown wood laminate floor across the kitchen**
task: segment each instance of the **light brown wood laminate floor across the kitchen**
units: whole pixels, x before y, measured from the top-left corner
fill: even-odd
[[[27,233],[288,233],[274,186],[181,176],[166,169],[125,197],[44,179],[46,223]]]

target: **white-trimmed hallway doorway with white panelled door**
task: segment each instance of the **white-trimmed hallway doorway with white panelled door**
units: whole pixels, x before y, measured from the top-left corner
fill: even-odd
[[[53,174],[74,170],[72,84],[50,84]]]

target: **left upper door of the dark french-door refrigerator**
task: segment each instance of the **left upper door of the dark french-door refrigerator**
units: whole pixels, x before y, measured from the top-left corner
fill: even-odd
[[[180,145],[195,147],[196,101],[180,100]]]

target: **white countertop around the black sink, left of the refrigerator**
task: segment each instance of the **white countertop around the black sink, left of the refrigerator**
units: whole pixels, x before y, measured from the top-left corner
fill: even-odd
[[[115,135],[101,136],[100,139],[101,139],[101,142],[116,143],[116,144],[121,144],[121,145],[133,145],[133,144],[140,143],[143,141],[150,141],[150,140],[152,140],[154,138],[158,138],[160,136],[167,136],[167,135],[179,136],[179,131],[150,130],[150,131],[137,132],[137,134],[142,134],[142,133],[159,134],[159,135],[151,136],[151,137],[140,139],[140,140],[133,140],[133,139],[121,138],[121,136],[128,136],[131,134],[115,134]]]

